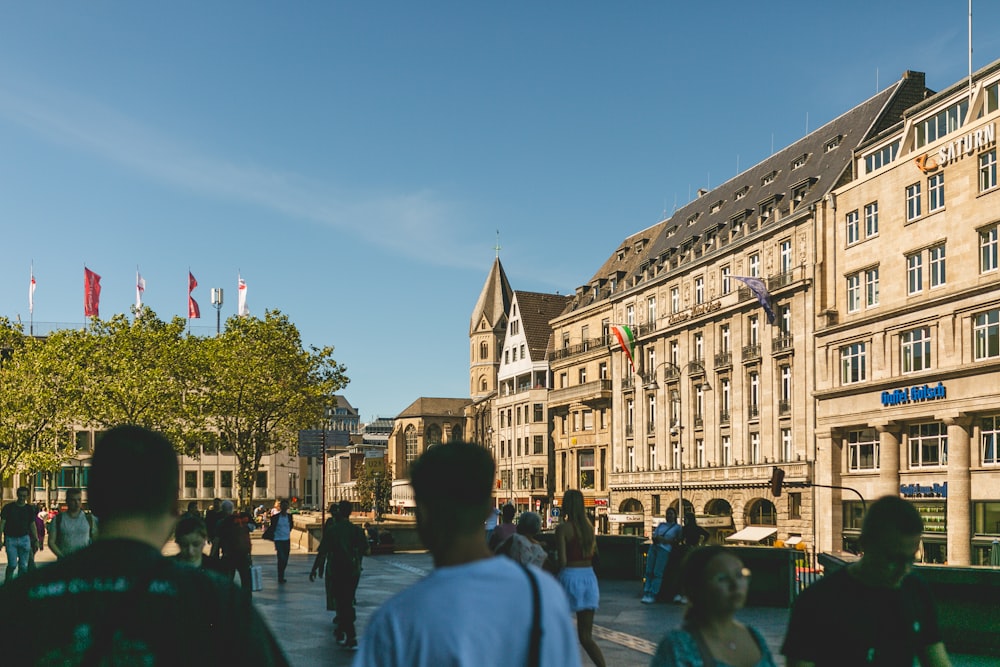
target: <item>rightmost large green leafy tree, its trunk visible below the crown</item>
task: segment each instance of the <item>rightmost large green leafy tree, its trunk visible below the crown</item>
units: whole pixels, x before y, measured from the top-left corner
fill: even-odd
[[[302,346],[296,326],[274,310],[264,318],[231,317],[218,338],[202,341],[204,407],[220,446],[237,461],[241,506],[252,504],[261,459],[297,444],[298,431],[323,418],[345,387],[333,348]]]

